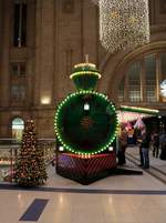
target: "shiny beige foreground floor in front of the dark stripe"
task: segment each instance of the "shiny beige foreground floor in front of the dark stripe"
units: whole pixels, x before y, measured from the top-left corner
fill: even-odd
[[[166,199],[163,195],[1,193],[1,223],[21,223],[20,216],[37,197],[49,200],[40,223],[165,223]]]

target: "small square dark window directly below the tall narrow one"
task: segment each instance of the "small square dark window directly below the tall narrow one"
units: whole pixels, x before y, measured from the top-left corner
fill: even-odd
[[[25,75],[25,63],[11,63],[11,75],[12,77],[24,77]]]

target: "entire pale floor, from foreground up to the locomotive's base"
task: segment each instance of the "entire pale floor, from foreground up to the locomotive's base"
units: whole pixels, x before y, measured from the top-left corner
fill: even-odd
[[[55,175],[53,168],[49,172],[45,187],[54,191],[0,190],[0,223],[34,223],[19,219],[35,199],[48,200],[39,223],[166,222],[166,185],[146,172],[108,176],[87,186]],[[77,191],[70,192],[73,189]]]

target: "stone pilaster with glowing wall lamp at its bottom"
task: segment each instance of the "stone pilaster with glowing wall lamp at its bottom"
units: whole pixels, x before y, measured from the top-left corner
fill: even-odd
[[[37,1],[35,104],[51,104],[54,77],[54,0]]]

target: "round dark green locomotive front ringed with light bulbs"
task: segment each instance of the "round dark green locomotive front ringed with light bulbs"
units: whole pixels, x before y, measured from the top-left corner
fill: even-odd
[[[54,125],[58,139],[66,150],[94,154],[106,150],[114,141],[117,115],[104,94],[80,91],[61,102]]]

